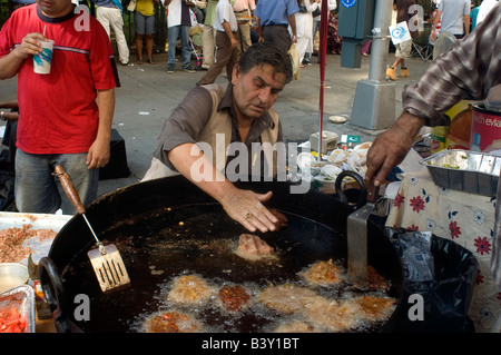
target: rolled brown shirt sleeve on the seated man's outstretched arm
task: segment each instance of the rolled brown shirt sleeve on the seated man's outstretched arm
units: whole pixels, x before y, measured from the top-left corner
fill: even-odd
[[[165,121],[155,157],[170,169],[175,169],[167,154],[177,146],[197,142],[198,136],[210,118],[212,107],[213,99],[209,91],[199,87],[193,89]]]

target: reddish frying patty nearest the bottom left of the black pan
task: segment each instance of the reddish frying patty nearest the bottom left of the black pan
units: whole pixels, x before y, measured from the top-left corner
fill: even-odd
[[[154,316],[146,323],[148,333],[198,333],[202,332],[202,324],[179,312],[166,312]]]

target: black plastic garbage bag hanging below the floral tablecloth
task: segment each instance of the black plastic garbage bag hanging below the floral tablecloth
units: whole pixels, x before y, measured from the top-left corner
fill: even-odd
[[[387,231],[404,266],[402,305],[406,307],[405,312],[412,313],[411,308],[415,307],[412,295],[420,295],[423,300],[422,319],[401,317],[395,332],[473,332],[473,323],[468,316],[479,268],[473,254],[435,235],[428,237],[400,228]],[[426,268],[431,274],[425,272]]]

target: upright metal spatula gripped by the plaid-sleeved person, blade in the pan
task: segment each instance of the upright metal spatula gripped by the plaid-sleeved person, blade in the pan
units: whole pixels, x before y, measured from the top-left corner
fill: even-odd
[[[347,266],[352,280],[365,287],[367,277],[367,219],[374,210],[379,187],[367,194],[367,203],[347,218]]]

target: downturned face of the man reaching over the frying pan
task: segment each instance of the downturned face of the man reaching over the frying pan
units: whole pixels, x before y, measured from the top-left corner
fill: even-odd
[[[285,86],[285,73],[274,73],[271,65],[254,67],[248,72],[235,66],[232,76],[236,109],[247,119],[266,114]]]

